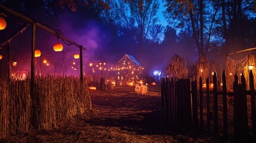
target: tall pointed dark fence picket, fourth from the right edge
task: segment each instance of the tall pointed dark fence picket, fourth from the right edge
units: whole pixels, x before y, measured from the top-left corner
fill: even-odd
[[[226,74],[223,71],[222,75],[223,87],[223,136],[227,139],[227,83],[226,83]]]

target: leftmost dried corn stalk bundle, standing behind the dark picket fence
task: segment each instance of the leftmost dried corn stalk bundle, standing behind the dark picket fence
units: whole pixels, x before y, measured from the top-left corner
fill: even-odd
[[[167,67],[167,72],[170,77],[186,78],[188,73],[186,60],[175,54]]]

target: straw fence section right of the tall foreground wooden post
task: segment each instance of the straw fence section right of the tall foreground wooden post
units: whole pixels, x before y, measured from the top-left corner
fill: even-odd
[[[83,114],[91,108],[87,83],[75,77],[47,76],[36,79],[36,97],[38,98],[38,129],[51,129],[57,120]]]

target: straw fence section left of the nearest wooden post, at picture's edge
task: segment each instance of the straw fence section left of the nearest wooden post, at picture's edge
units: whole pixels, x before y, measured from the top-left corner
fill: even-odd
[[[29,80],[1,80],[0,85],[0,138],[29,130],[30,119]]]

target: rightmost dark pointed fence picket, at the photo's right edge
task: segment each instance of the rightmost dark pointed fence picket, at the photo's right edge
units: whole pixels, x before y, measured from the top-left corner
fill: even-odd
[[[256,109],[255,109],[255,91],[254,91],[254,76],[252,70],[250,71],[250,90],[251,90],[251,114],[252,114],[252,135],[254,142],[256,142]]]

